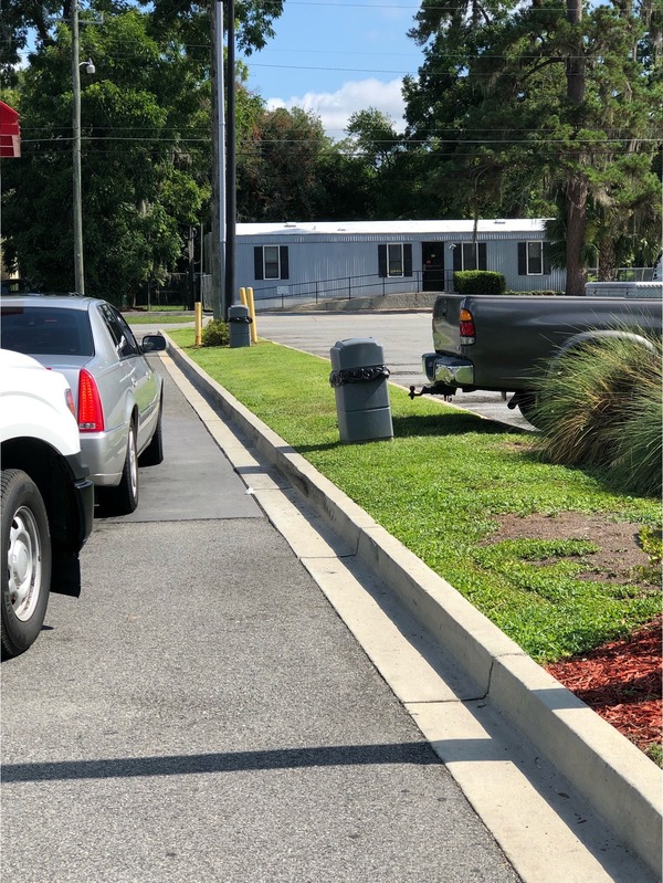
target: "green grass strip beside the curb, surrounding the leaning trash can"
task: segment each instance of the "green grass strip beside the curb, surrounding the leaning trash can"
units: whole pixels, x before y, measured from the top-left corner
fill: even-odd
[[[341,444],[329,364],[260,340],[193,347],[211,377],[389,533],[451,582],[538,662],[627,634],[661,611],[660,587],[588,581],[587,539],[490,543],[513,514],[602,513],[661,527],[655,498],[615,493],[599,474],[537,461],[527,433],[390,387],[394,438]],[[305,378],[305,380],[304,380]]]

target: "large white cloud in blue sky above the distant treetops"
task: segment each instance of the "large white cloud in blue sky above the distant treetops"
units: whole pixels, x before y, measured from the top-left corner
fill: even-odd
[[[336,140],[345,138],[345,129],[351,114],[375,107],[388,116],[397,132],[404,129],[404,103],[401,95],[402,81],[392,80],[383,83],[380,80],[360,80],[344,83],[336,92],[307,92],[293,95],[291,98],[267,98],[267,111],[277,107],[302,107],[322,119],[325,132]]]

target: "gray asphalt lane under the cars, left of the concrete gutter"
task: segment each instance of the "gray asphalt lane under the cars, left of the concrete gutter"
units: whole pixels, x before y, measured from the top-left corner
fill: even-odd
[[[516,883],[168,378],[166,402],[138,511],[97,519],[81,599],[2,664],[2,882]]]

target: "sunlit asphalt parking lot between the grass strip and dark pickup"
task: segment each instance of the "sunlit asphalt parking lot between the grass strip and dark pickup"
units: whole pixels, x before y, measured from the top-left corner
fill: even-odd
[[[256,329],[261,337],[327,359],[337,340],[372,337],[382,347],[385,364],[391,371],[391,382],[406,389],[415,386],[417,390],[428,382],[421,369],[421,356],[433,348],[430,309],[393,313],[259,313]],[[533,430],[518,409],[512,411],[507,408],[498,392],[460,392],[453,397],[452,403],[491,420]],[[417,399],[412,408],[417,408]]]

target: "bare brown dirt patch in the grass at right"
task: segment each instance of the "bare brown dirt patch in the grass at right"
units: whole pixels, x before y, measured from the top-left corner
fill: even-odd
[[[596,544],[598,551],[585,553],[587,571],[578,579],[600,582],[629,582],[651,587],[639,567],[646,567],[649,556],[639,542],[640,525],[629,522],[608,522],[603,515],[583,515],[562,512],[557,515],[504,515],[497,518],[499,528],[490,543],[503,539],[586,539]],[[548,560],[546,563],[549,563]]]

